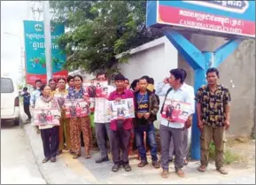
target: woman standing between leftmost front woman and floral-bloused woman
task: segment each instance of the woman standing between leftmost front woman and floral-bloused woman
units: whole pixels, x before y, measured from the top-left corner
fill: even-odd
[[[71,140],[70,140],[70,127],[69,119],[66,118],[66,112],[63,109],[65,98],[68,94],[66,90],[66,80],[64,78],[58,79],[58,89],[55,90],[54,96],[57,98],[58,106],[61,109],[61,117],[59,119],[58,129],[58,155],[62,153],[65,148],[71,152]],[[65,147],[66,143],[66,147]]]

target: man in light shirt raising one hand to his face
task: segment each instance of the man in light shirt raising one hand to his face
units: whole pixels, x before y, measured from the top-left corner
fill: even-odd
[[[156,94],[159,96],[163,95],[163,88],[165,83],[169,83],[171,86],[170,89],[166,92],[166,99],[176,102],[188,103],[191,105],[189,115],[193,112],[193,98],[190,96],[190,90],[184,86],[183,82],[185,81],[185,75],[183,69],[172,69],[170,71],[170,77],[164,80],[164,83],[160,83]],[[163,103],[165,104],[165,102]],[[182,171],[183,166],[183,131],[184,127],[190,127],[191,119],[187,119],[184,123],[175,122],[172,119],[162,119],[160,124],[160,142],[161,142],[161,166],[163,172],[161,176],[163,178],[168,177],[168,168],[169,168],[169,147],[171,138],[174,140],[174,149],[175,149],[175,172],[178,176],[183,177],[184,172]]]

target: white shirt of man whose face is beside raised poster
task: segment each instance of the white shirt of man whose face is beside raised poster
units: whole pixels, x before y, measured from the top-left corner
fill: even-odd
[[[108,85],[107,86],[107,96],[109,96],[115,88]],[[107,115],[108,107],[107,98],[95,98],[95,112],[94,112],[94,122],[95,123],[109,123],[110,118]]]

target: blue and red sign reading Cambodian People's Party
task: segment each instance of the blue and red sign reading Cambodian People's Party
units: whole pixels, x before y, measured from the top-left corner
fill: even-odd
[[[148,1],[147,27],[255,37],[255,1]]]

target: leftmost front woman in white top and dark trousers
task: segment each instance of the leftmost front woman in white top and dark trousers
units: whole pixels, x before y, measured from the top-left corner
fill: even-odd
[[[42,85],[40,88],[41,96],[35,101],[35,109],[54,108],[57,104],[54,98],[50,96],[50,87]],[[47,161],[56,162],[56,155],[58,151],[58,126],[45,125],[39,126],[41,130],[41,137],[43,141],[43,163]]]

